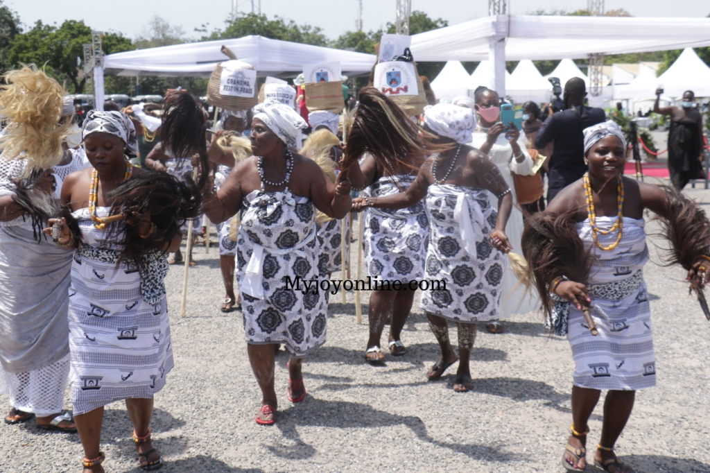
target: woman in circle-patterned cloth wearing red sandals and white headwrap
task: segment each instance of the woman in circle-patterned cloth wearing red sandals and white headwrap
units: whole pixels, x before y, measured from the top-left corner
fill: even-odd
[[[241,210],[236,276],[249,362],[262,393],[256,422],[268,425],[278,408],[274,345],[291,352],[287,393],[299,402],[306,395],[302,360],[326,338],[326,295],[314,287],[327,278],[318,266],[316,210],[341,219],[351,200],[348,180],[333,184],[316,163],[290,151],[306,127],[293,108],[269,100],[253,112],[254,156],[237,163],[202,208],[212,222]],[[304,281],[313,286],[306,289]]]

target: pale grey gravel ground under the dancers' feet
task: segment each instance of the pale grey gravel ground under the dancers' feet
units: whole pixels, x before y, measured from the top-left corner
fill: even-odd
[[[689,193],[710,205],[709,191]],[[425,379],[438,351],[416,302],[403,332],[408,353],[387,355],[376,367],[364,360],[368,327],[356,325],[352,293],[346,304],[332,296],[327,344],[304,364],[307,398],[288,402],[288,355],[280,351],[278,422],[263,427],[253,421],[261,394],[241,312],[219,311],[217,251],[205,254],[197,246],[195,257],[187,317],[180,317],[183,268],[171,268],[167,281],[175,369],[155,397],[152,425],[162,471],[564,471],[559,460],[571,423],[574,363],[567,341],[548,337],[539,314],[510,317],[503,335],[481,325],[472,354],[474,389],[461,394],[452,391],[455,366],[441,381]],[[636,472],[710,472],[710,322],[688,296],[680,268],[649,263],[645,278],[658,386],[638,393],[618,453]],[[363,293],[364,303],[368,297]],[[7,406],[6,396],[0,405]],[[599,441],[601,415],[600,403],[589,423],[590,445]],[[107,406],[107,472],[141,471],[130,436],[124,405]],[[45,433],[33,421],[0,426],[1,472],[80,472],[81,457],[76,434]]]

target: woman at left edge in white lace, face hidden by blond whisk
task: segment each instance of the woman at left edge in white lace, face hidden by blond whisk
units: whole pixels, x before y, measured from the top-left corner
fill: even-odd
[[[39,112],[35,116],[40,121],[54,118],[62,124],[72,120],[74,104],[65,97],[62,108],[58,82],[44,72],[23,70],[19,74],[9,72],[10,87],[21,89],[21,101],[28,103],[16,109],[27,112],[38,100],[41,108],[33,111]],[[46,93],[45,87],[53,93]],[[45,94],[33,97],[36,89],[45,89]],[[33,136],[50,139],[40,126],[34,128],[28,122],[20,127],[10,124],[7,130],[9,134],[31,131]],[[5,423],[23,423],[35,415],[40,428],[72,433],[77,431],[72,415],[62,413],[70,370],[67,309],[72,255],[44,237],[41,228],[46,222],[28,213],[17,200],[18,184],[49,197],[61,191],[68,173],[85,167],[82,153],[67,143],[55,151],[62,154],[61,161],[51,168],[51,174],[32,182],[19,182],[28,165],[26,159],[0,157],[0,393],[9,395],[12,406]]]

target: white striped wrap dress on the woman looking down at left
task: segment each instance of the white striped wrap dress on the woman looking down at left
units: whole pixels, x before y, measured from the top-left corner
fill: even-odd
[[[99,217],[108,211],[97,207]],[[74,254],[69,293],[70,391],[74,413],[84,414],[126,398],[153,397],[173,368],[173,347],[165,294],[148,303],[136,265],[116,267],[108,231],[94,227],[86,208],[72,215],[82,248]],[[155,279],[161,277],[149,283],[160,286]]]

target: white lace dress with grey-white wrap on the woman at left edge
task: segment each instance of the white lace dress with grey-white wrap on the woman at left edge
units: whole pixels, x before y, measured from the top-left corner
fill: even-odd
[[[12,195],[25,161],[0,161],[0,195]],[[58,191],[86,167],[82,153],[56,166]],[[72,253],[37,237],[29,217],[0,222],[0,394],[38,417],[59,413],[69,376],[69,284]],[[39,290],[41,289],[41,290]]]

